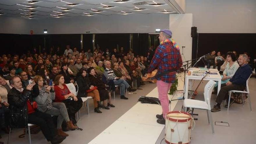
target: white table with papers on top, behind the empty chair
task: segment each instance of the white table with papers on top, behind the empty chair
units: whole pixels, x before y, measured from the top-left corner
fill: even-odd
[[[190,68],[189,71],[191,71],[191,75],[187,75],[185,77],[185,87],[184,87],[184,93],[185,93],[185,99],[188,98],[188,91],[189,91],[189,80],[191,79],[198,79],[201,80],[203,78],[203,76],[193,76],[193,71],[198,71],[198,70],[202,70],[200,68]],[[213,80],[213,81],[218,81],[218,93],[221,89],[221,75],[218,72],[217,69],[209,69],[210,72],[217,72],[217,74],[209,74],[209,77],[205,77],[203,80],[209,81],[209,80]],[[190,88],[192,86],[190,85]],[[218,94],[217,93],[217,94]]]

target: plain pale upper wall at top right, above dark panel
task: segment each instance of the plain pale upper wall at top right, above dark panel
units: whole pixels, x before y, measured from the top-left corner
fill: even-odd
[[[256,0],[187,0],[198,33],[256,33]]]

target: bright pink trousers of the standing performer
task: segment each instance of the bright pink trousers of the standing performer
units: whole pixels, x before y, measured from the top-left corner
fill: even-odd
[[[163,118],[165,119],[166,113],[170,111],[169,109],[169,98],[168,92],[172,86],[172,83],[165,83],[163,81],[157,81],[157,89],[158,89],[158,99],[161,102],[162,110],[163,110]]]

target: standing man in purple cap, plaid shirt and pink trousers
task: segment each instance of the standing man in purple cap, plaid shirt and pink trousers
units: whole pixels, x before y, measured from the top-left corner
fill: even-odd
[[[154,57],[148,68],[148,73],[157,68],[157,88],[158,98],[162,106],[162,114],[156,115],[158,118],[157,123],[165,124],[165,116],[169,110],[169,98],[168,91],[175,81],[176,72],[175,69],[179,69],[182,66],[182,58],[179,51],[179,46],[172,39],[172,32],[168,29],[160,31],[159,34],[160,45],[157,47]],[[170,72],[168,72],[170,71]],[[163,75],[162,75],[162,74]]]

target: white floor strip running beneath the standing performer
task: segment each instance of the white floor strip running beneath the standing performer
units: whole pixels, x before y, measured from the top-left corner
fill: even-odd
[[[183,82],[179,78],[179,86]],[[178,87],[179,89],[179,87]],[[177,99],[183,93],[168,95],[169,99]],[[154,88],[147,97],[158,97],[157,87]],[[172,111],[177,104],[177,101],[171,102]],[[142,104],[138,102],[131,109],[129,109],[118,120],[113,122],[102,133],[95,137],[89,144],[155,144],[164,125],[157,123],[156,114],[161,114],[162,109],[158,104]]]

